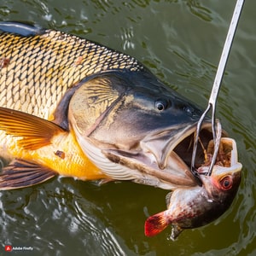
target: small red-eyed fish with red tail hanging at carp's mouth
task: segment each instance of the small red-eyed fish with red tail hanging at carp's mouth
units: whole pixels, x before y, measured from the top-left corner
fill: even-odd
[[[237,162],[236,143],[222,138],[224,145],[233,148],[230,166],[214,165],[212,175],[207,176],[205,166],[199,168],[202,186],[175,189],[166,196],[168,209],[149,217],[145,223],[145,235],[155,236],[172,225],[172,240],[184,229],[193,229],[211,223],[230,207],[241,182],[241,164]]]

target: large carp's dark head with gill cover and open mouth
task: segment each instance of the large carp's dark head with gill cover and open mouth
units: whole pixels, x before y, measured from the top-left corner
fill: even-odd
[[[163,189],[195,186],[190,172],[201,110],[148,72],[102,73],[77,85],[68,122],[80,147],[108,177]],[[212,139],[202,125],[201,143]],[[198,148],[195,164],[204,161]]]

